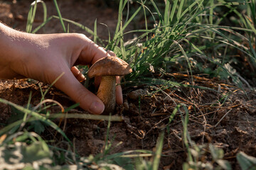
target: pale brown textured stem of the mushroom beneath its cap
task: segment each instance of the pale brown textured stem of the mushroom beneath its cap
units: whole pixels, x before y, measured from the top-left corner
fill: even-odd
[[[97,96],[105,104],[105,112],[114,111],[116,95],[115,95],[116,77],[102,76],[100,87],[97,91]]]

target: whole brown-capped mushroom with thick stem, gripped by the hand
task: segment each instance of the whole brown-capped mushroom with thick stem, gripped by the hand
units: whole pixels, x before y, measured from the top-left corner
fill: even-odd
[[[87,72],[89,78],[102,77],[97,96],[105,104],[105,113],[114,111],[116,105],[116,76],[123,76],[132,72],[127,62],[116,56],[104,57],[97,60]]]

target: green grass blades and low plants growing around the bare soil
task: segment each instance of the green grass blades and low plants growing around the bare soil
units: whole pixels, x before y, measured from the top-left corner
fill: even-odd
[[[57,1],[54,0],[53,2],[58,16],[47,17],[47,6],[43,1],[35,1],[31,4],[26,32],[36,33],[41,28],[44,28],[46,23],[53,19],[58,19],[63,27],[63,32],[68,32],[68,24],[73,24],[93,35],[95,42],[104,45],[104,41],[97,36],[97,20],[95,20],[94,30],[90,30],[80,23],[63,18]],[[37,28],[33,28],[38,3],[43,6],[43,23]],[[242,2],[174,0],[166,1],[165,6],[162,6],[158,1],[141,0],[137,2],[139,8],[132,8],[129,3],[127,0],[119,1],[116,30],[112,38],[109,36],[108,43],[105,46],[107,50],[114,51],[117,57],[121,57],[132,66],[134,72],[125,77],[125,81],[122,82],[124,86],[146,84],[153,87],[161,85],[163,88],[179,86],[189,86],[196,89],[206,88],[193,85],[193,75],[198,73],[208,74],[210,77],[219,77],[220,79],[231,79],[240,88],[243,88],[245,83],[249,84],[249,86],[252,84],[253,81],[248,83],[248,77],[242,78],[241,75],[243,74],[236,64],[238,58],[233,57],[233,51],[240,51],[244,58],[247,59],[250,69],[256,69],[256,2],[254,0]],[[125,13],[124,11],[128,5],[130,5],[129,9],[132,12],[127,11]],[[220,11],[222,8],[228,8],[228,10]],[[245,13],[240,13],[242,11],[240,8],[247,8],[247,10]],[[219,16],[215,14],[218,11],[220,12]],[[145,20],[144,28],[126,31],[127,26],[136,19],[139,13],[142,13]],[[223,23],[225,23],[226,16],[230,15],[230,13],[238,21],[234,20],[236,23],[233,23],[232,26],[225,26]],[[125,21],[124,14],[126,14]],[[148,19],[153,21],[154,25],[148,23]],[[137,33],[137,38],[127,42],[124,40],[124,35],[130,33]],[[182,67],[177,68],[177,64]],[[171,69],[189,74],[191,76],[190,85],[169,81],[154,75],[155,73],[165,75]],[[255,72],[250,74],[249,79],[251,77],[255,77]],[[161,89],[157,90],[161,91]],[[28,101],[27,107],[24,108],[0,99],[1,103],[8,104],[16,113],[21,115],[21,119],[14,120],[13,123],[0,130],[0,155],[6,153],[7,150],[10,151],[11,149],[12,151],[9,154],[4,154],[5,159],[18,157],[18,154],[31,157],[36,153],[34,159],[21,159],[18,163],[21,164],[20,166],[28,163],[26,167],[31,169],[35,168],[33,162],[37,162],[42,169],[70,169],[72,166],[77,168],[90,167],[91,169],[100,167],[102,169],[111,169],[114,166],[123,167],[124,169],[134,169],[134,167],[136,169],[159,169],[160,159],[164,157],[161,151],[165,133],[169,132],[171,121],[180,113],[183,125],[182,141],[188,155],[187,162],[183,163],[183,169],[213,169],[214,167],[216,169],[231,169],[230,164],[223,160],[222,149],[217,149],[213,145],[198,146],[191,141],[187,130],[188,108],[181,105],[181,103],[176,104],[176,108],[170,115],[169,123],[159,133],[155,152],[133,150],[110,154],[111,149],[114,147],[112,146],[114,139],[108,139],[109,135],[107,135],[105,148],[101,154],[80,157],[73,149],[73,142],[68,139],[58,125],[50,120],[53,116],[55,118],[63,118],[63,116],[77,118],[75,116],[78,115],[75,114],[63,114],[75,106],[70,106],[70,108],[62,111],[63,113],[51,115],[46,111],[46,108],[50,106],[43,104],[46,93],[42,93],[41,107],[36,109],[30,108],[30,101]],[[43,111],[46,111],[46,113],[43,113]],[[82,117],[79,115],[78,117],[102,119],[102,117],[97,116],[95,118],[93,115],[82,115]],[[110,132],[112,121],[122,119],[118,116],[103,116],[103,118],[108,120],[107,132]],[[30,129],[28,130],[29,127]],[[61,149],[51,145],[51,142],[43,140],[40,134],[41,131],[36,130],[36,127],[53,128],[64,137],[62,142],[67,142],[70,149]],[[108,142],[109,140],[110,142]],[[212,160],[201,162],[200,158],[206,154],[205,150],[210,151]],[[144,159],[144,157],[152,157],[153,159]],[[237,159],[242,169],[255,166],[255,158],[244,153],[238,154]],[[10,162],[0,163],[7,167]],[[15,165],[18,166],[18,164]]]

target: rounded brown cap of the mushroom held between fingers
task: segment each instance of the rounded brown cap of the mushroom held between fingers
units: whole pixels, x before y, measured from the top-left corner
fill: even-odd
[[[98,76],[123,76],[132,72],[127,62],[118,57],[104,57],[97,60],[88,71],[88,77]]]

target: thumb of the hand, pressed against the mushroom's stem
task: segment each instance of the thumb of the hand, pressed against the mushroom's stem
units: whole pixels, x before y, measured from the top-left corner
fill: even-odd
[[[64,72],[54,86],[70,96],[73,101],[80,103],[80,107],[90,113],[101,114],[105,109],[100,98],[82,86],[69,69]]]

